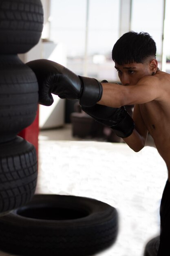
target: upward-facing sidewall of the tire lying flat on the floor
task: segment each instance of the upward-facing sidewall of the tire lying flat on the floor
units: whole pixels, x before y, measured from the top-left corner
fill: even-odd
[[[56,200],[56,204],[54,204],[55,198],[59,199]],[[91,225],[101,225],[101,220],[104,220],[104,222],[109,222],[113,215],[116,215],[116,209],[111,207],[110,205],[103,203],[101,201],[92,199],[92,198],[84,198],[84,197],[77,197],[72,195],[35,195],[33,197],[33,200],[29,202],[24,208],[26,207],[36,207],[39,204],[40,205],[50,205],[53,204],[57,207],[63,207],[66,209],[72,208],[75,210],[80,211],[88,211],[88,215],[83,218],[77,218],[77,219],[71,219],[71,220],[38,220],[33,218],[26,218],[23,216],[20,216],[18,214],[18,209],[12,211],[9,213],[8,216],[5,216],[8,220],[13,220],[16,224],[18,222],[18,225],[21,225],[21,227],[27,227],[27,228],[35,228],[37,229],[37,226],[40,226],[40,224],[43,226],[43,228],[51,229],[54,227],[54,225],[58,228],[66,227],[69,229],[73,228],[73,226],[77,227],[88,227]],[[56,227],[55,226],[55,227]]]

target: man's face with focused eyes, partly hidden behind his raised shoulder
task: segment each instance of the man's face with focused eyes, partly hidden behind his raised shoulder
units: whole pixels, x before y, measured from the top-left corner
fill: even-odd
[[[115,63],[119,79],[122,85],[136,85],[144,76],[150,75],[150,63],[130,63],[118,65]]]

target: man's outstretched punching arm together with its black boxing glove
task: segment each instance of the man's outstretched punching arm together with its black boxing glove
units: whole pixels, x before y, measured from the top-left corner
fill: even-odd
[[[115,108],[146,103],[160,96],[160,86],[153,76],[145,76],[137,85],[101,84],[96,79],[77,76],[53,61],[36,60],[26,64],[35,72],[39,102],[46,106],[53,103],[52,93],[63,99],[79,99],[85,107],[98,103]]]

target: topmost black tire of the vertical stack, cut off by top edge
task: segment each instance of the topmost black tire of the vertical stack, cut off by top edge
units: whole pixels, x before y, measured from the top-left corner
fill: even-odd
[[[28,52],[40,40],[40,0],[0,0],[0,54]]]

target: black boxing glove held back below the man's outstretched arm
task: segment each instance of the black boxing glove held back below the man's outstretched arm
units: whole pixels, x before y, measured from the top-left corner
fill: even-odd
[[[101,83],[107,83],[107,81],[103,80]],[[96,104],[92,107],[82,106],[82,110],[99,123],[110,126],[115,134],[121,138],[129,137],[135,128],[135,123],[124,106],[111,108]]]

